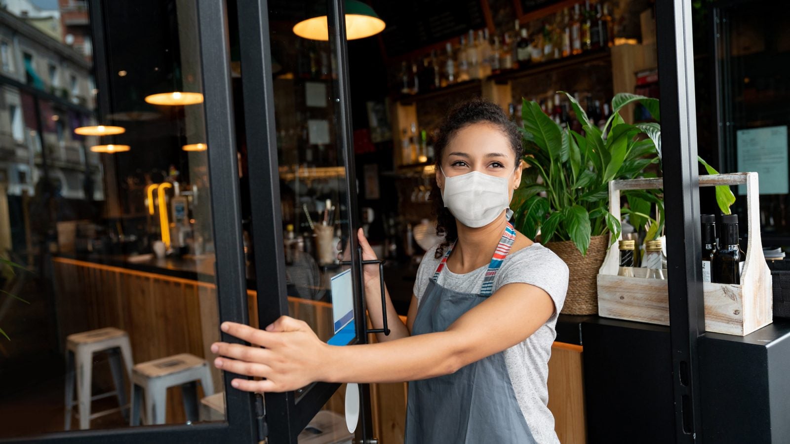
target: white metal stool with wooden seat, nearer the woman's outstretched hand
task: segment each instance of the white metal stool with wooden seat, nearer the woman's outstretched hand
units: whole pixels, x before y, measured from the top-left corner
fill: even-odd
[[[186,419],[198,421],[198,386],[205,396],[214,394],[211,369],[205,359],[182,353],[139,363],[132,370],[132,414],[130,425],[140,425],[141,397],[145,392],[145,423],[164,424],[167,389],[181,386]]]

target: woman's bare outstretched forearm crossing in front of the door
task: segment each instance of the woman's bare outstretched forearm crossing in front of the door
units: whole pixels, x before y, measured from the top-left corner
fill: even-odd
[[[454,346],[456,336],[448,331],[378,344],[333,346],[326,382],[403,382],[451,374],[463,360]]]

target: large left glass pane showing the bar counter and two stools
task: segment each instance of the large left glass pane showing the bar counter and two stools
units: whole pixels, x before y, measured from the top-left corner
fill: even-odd
[[[50,3],[0,11],[0,438],[224,420],[195,2]]]

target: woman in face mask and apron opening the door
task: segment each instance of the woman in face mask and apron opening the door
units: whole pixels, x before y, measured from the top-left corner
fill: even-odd
[[[432,193],[445,241],[419,265],[408,320],[389,295],[392,332],[378,344],[333,347],[304,322],[282,317],[265,331],[225,322],[251,344],[216,343],[216,367],[251,392],[310,382],[408,385],[406,442],[558,442],[547,408],[547,363],[568,269],[513,230],[510,200],[521,182],[521,135],[483,100],[455,107],[442,124]],[[375,254],[359,231],[364,259]],[[364,271],[368,314],[382,326],[378,267]],[[378,301],[378,302],[377,302]]]

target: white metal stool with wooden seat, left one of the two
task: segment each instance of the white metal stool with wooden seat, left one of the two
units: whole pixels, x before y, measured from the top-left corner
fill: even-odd
[[[93,355],[107,352],[110,356],[110,370],[115,391],[92,396]],[[121,362],[123,361],[123,362]],[[74,404],[78,405],[80,429],[90,428],[91,420],[99,416],[122,412],[124,418],[129,414],[126,403],[126,385],[123,383],[123,367],[131,379],[132,346],[129,335],[122,329],[107,327],[89,332],[74,333],[66,337],[66,415],[65,428],[71,428],[71,413]],[[77,379],[77,401],[74,401],[74,379]],[[119,407],[91,413],[91,401],[115,395]]]

